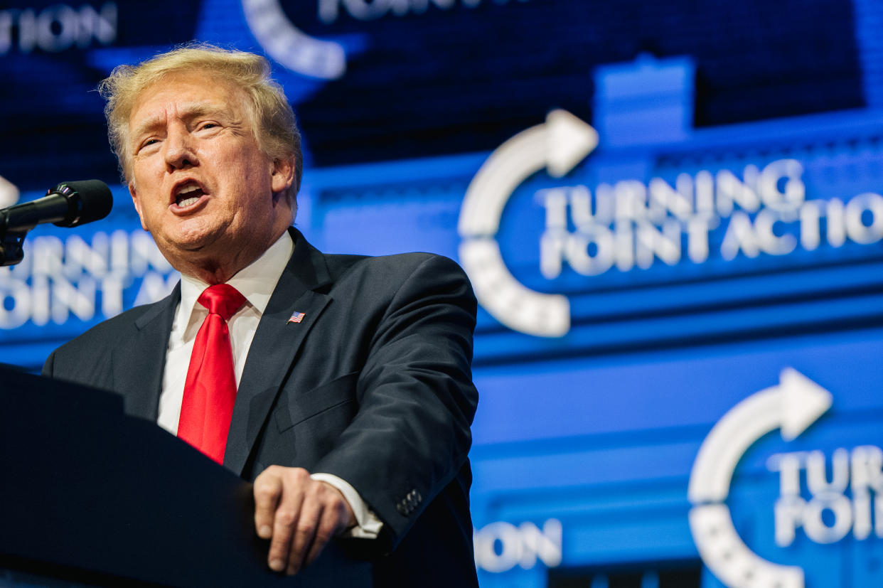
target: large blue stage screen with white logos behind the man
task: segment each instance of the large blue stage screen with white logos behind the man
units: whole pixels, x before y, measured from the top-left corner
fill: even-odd
[[[116,200],[2,268],[4,362],[38,371],[177,282],[98,82],[192,40],[257,51],[304,133],[313,245],[472,279],[482,586],[883,584],[879,22],[872,0],[4,5],[0,205],[90,177]]]

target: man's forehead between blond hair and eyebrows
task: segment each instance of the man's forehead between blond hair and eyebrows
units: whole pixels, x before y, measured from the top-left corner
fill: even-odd
[[[129,114],[130,132],[202,114],[240,117],[245,91],[210,72],[173,72],[140,91]]]

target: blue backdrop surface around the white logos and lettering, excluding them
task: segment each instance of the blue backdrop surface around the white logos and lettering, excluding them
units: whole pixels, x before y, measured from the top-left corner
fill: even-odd
[[[565,294],[572,327],[540,338],[479,311],[473,519],[480,533],[555,518],[562,560],[498,573],[479,562],[481,584],[722,585],[702,566],[687,523],[691,466],[712,426],[777,384],[786,366],[828,389],[834,405],[797,440],[772,433],[743,456],[728,498],[736,528],[760,556],[803,567],[809,588],[883,584],[883,539],[874,533],[818,545],[798,530],[792,546],[774,545],[778,474],[765,465],[782,451],[883,446],[881,243],[723,260],[717,232],[703,263],[684,255],[670,267],[594,277],[565,264],[547,280],[538,265],[545,213],[535,199],[549,186],[674,183],[699,170],[742,177],[747,165],[781,159],[802,163],[807,200],[883,192],[883,6],[451,0],[418,11],[412,0],[397,15],[375,0],[379,12],[363,20],[347,6],[371,3],[340,0],[329,24],[318,4],[281,6],[304,33],[340,43],[347,71],[326,80],[273,65],[305,137],[298,227],[324,251],[457,259],[464,194],[496,147],[557,108],[600,133],[600,146],[567,177],[541,171],[503,213],[497,237],[509,270],[535,290]],[[112,6],[113,39],[29,44],[23,19],[62,19],[59,6]],[[61,20],[50,26],[63,36]],[[21,200],[98,177],[116,208],[76,235],[94,245],[96,233],[140,231],[93,90],[114,65],[192,39],[264,52],[233,0],[0,5],[0,176]],[[52,236],[70,245],[72,231],[42,226],[27,246]],[[29,286],[33,278],[29,268],[7,272],[0,293],[11,312],[16,272]],[[78,283],[89,272],[74,274]],[[142,277],[126,277],[126,306]],[[102,318],[99,310],[0,330],[4,361],[37,370]],[[501,555],[505,546],[495,546]],[[670,579],[675,572],[687,579]]]

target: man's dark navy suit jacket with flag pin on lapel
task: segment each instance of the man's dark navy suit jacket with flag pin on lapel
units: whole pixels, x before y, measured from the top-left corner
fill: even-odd
[[[476,585],[468,279],[429,253],[327,255],[291,236],[239,382],[224,466],[248,480],[271,464],[298,466],[355,487],[381,537],[334,548],[367,570],[364,585]],[[126,412],[155,421],[179,299],[176,288],[102,322],[54,351],[43,374],[115,391]],[[289,323],[292,313],[303,320]]]

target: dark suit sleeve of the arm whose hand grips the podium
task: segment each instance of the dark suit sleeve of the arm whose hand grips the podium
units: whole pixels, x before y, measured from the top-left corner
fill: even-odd
[[[356,488],[393,546],[466,461],[478,404],[475,312],[472,287],[455,262],[433,256],[420,263],[368,344],[356,417],[315,465]]]

